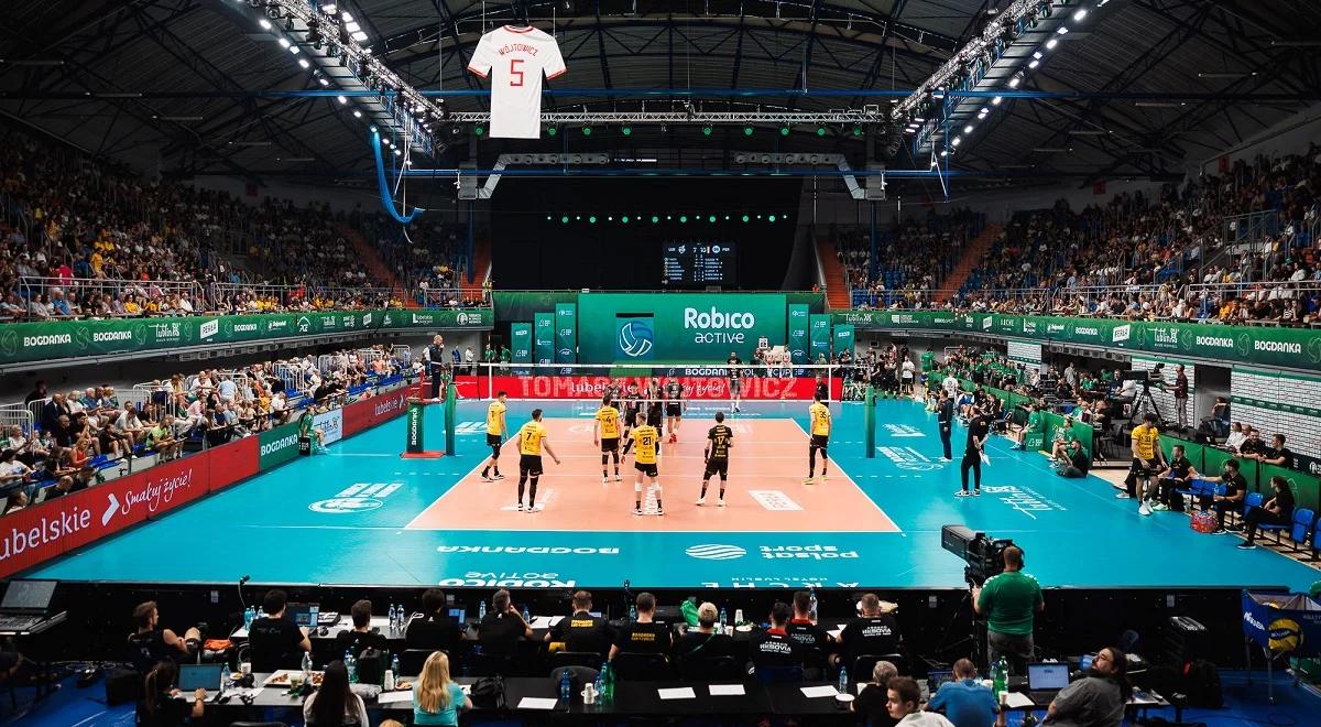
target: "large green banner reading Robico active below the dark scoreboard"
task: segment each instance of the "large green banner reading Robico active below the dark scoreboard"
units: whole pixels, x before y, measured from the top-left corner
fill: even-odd
[[[579,360],[614,364],[650,356],[719,364],[734,352],[750,361],[761,338],[768,345],[785,344],[785,311],[783,293],[583,293]],[[620,341],[614,321],[621,317],[651,317],[651,345]]]

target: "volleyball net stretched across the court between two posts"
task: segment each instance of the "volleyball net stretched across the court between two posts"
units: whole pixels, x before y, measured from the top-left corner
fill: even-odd
[[[637,397],[668,401],[678,383],[686,402],[811,402],[844,399],[851,367],[834,364],[738,366],[712,364],[473,364],[454,370],[462,399],[494,399],[501,391],[519,401],[600,401]]]

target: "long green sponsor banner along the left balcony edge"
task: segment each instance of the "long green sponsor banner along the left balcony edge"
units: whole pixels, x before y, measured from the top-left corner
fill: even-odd
[[[490,308],[268,313],[0,325],[0,365],[375,330],[486,330]]]

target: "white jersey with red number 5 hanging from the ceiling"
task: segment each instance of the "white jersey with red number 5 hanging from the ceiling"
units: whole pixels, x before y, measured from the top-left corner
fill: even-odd
[[[490,75],[493,139],[540,139],[542,73],[550,79],[565,70],[555,38],[502,25],[477,41],[468,70]]]

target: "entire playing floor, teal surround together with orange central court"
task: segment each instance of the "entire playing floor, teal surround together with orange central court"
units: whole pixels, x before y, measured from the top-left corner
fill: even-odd
[[[740,461],[749,460],[733,461],[724,510],[694,505],[703,439],[717,404],[692,403],[679,445],[662,453],[666,516],[617,517],[621,506],[631,506],[633,460],[622,482],[602,485],[590,443],[596,403],[511,401],[510,428],[534,406],[546,410],[552,445],[565,460],[553,467],[547,457],[542,512],[511,508],[518,461],[511,443],[501,459],[507,478],[473,489],[489,455],[486,402],[465,401],[453,456],[400,459],[404,420],[396,419],[29,575],[227,583],[247,574],[255,583],[472,587],[614,587],[625,579],[653,588],[958,587],[963,562],[941,547],[941,527],[950,523],[1012,538],[1026,551],[1028,572],[1053,587],[1305,590],[1321,575],[1267,549],[1239,551],[1236,537],[1194,533],[1186,516],[1139,517],[1132,501],[1115,500],[1108,482],[1057,477],[1045,457],[1009,451],[1000,438],[988,444],[983,494],[955,498],[959,463],[941,460],[934,415],[908,401],[877,404],[873,459],[864,451],[863,404],[831,404],[832,476],[815,485],[802,482],[806,403],[744,404],[731,419],[736,449],[744,445],[745,457],[766,461],[742,471]],[[437,416],[428,420],[428,434],[439,439],[440,407],[428,410]],[[758,432],[777,434],[757,445]],[[955,455],[964,436],[962,427],[954,432]],[[456,494],[460,488],[466,494]],[[860,505],[867,518],[859,519]],[[421,517],[441,510],[441,519]],[[782,517],[798,518],[799,526],[778,526]]]

